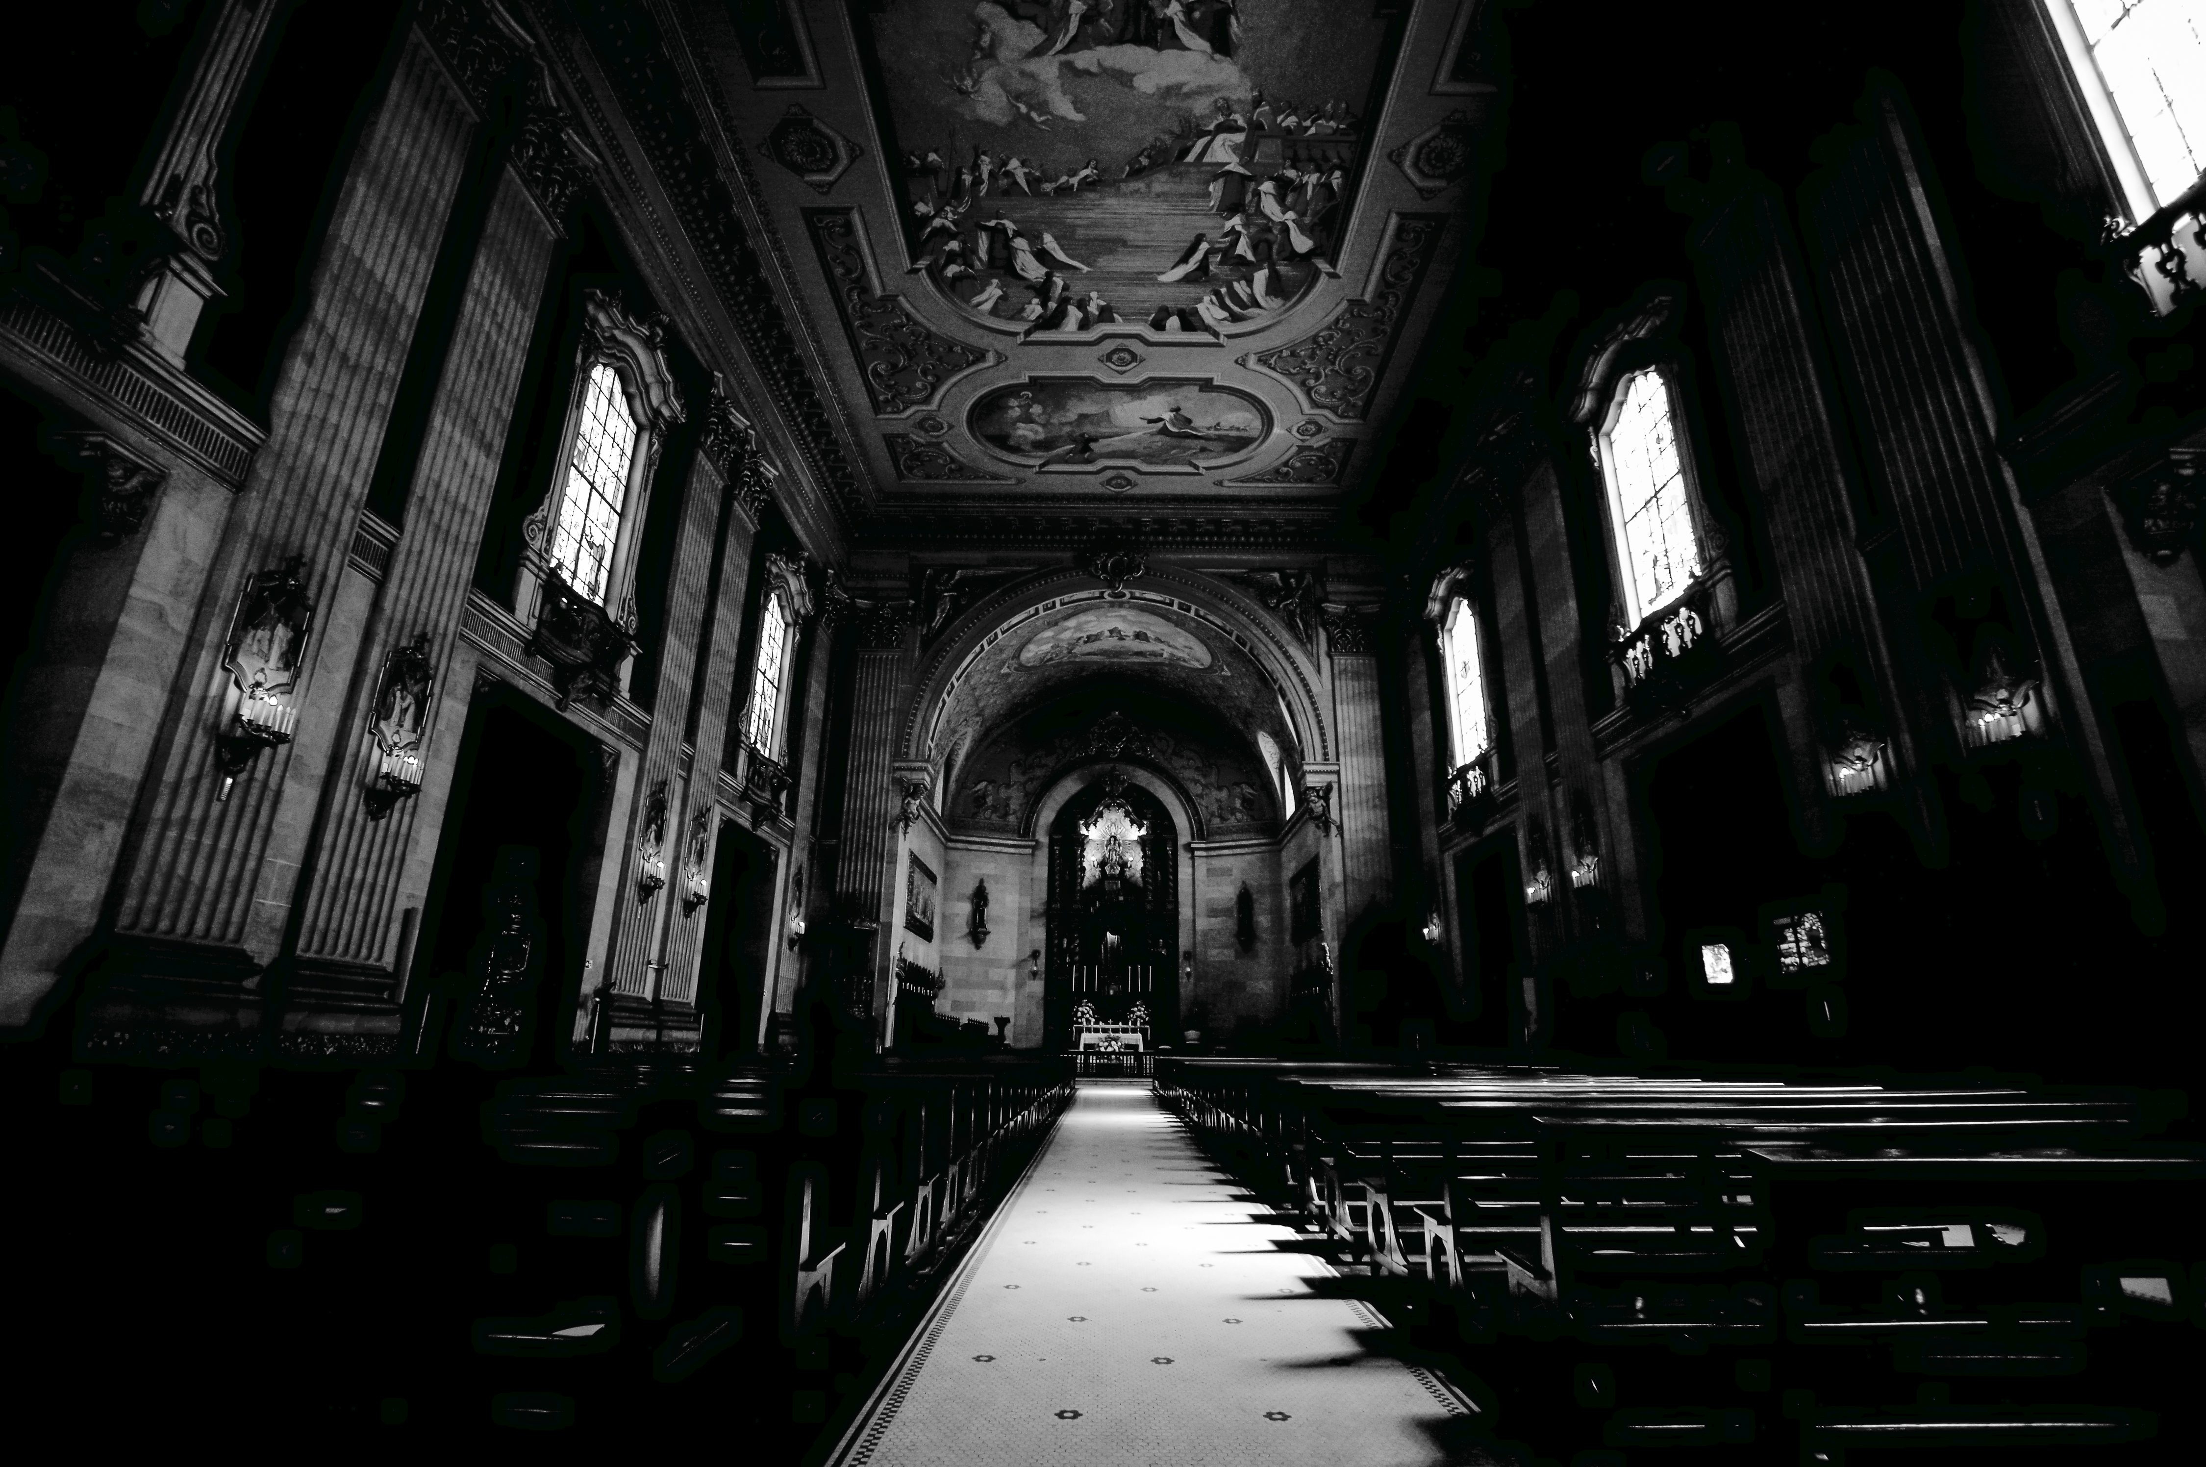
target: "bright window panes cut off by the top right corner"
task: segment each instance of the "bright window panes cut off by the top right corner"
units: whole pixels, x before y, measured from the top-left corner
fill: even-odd
[[[2074,7],[2087,57],[2071,60],[2107,86],[2153,205],[2173,203],[2206,172],[2206,11],[2197,0],[2052,2]]]

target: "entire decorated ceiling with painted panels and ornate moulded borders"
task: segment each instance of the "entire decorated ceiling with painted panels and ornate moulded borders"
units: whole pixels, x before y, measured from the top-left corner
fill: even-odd
[[[1467,243],[1485,9],[690,7],[856,538],[1324,545]]]

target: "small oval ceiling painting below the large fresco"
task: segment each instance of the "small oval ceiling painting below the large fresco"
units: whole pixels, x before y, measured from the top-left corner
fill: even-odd
[[[1021,382],[973,404],[973,437],[1019,463],[1207,463],[1264,439],[1253,397],[1202,382]]]

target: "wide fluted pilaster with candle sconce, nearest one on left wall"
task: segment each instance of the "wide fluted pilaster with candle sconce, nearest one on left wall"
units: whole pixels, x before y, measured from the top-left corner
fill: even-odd
[[[163,966],[143,960],[146,940],[181,942],[201,953],[188,971],[207,973],[212,960],[225,982],[251,988],[274,955],[357,657],[357,622],[331,622],[472,128],[465,99],[419,33],[410,35],[338,196],[307,318],[285,353],[267,448],[232,514],[194,651],[161,715],[165,748],[115,902],[115,931],[141,955],[126,957],[126,968]],[[221,671],[229,618],[245,582],[291,556],[304,558],[320,609],[293,699],[298,737],[260,754],[223,801],[214,741],[232,697]]]

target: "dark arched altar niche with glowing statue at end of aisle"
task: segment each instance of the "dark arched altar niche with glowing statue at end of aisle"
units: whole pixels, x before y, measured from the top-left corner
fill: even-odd
[[[1048,1048],[1072,1046],[1072,1010],[1123,1024],[1141,1004],[1152,1041],[1180,1021],[1180,829],[1165,803],[1105,770],[1050,821]]]

